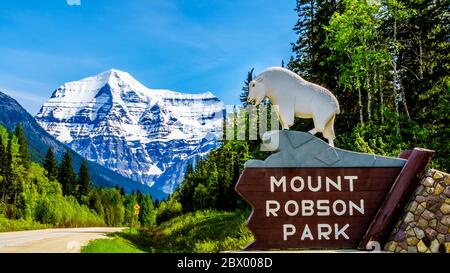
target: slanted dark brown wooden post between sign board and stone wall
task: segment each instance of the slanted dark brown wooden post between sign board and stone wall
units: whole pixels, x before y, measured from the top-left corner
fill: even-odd
[[[406,205],[433,155],[434,151],[421,148],[414,148],[411,153],[401,153],[400,157],[407,158],[408,161],[384,199],[358,249],[366,250],[367,244],[371,241],[378,242],[380,245],[384,243],[395,225],[401,208]]]

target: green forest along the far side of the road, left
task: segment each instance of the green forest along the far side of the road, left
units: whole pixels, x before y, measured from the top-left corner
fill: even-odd
[[[69,151],[57,162],[51,148],[43,165],[30,160],[22,126],[0,126],[0,232],[47,227],[150,227],[165,213],[165,202],[139,191],[92,186],[87,162],[73,169]],[[140,206],[133,214],[133,205]],[[180,209],[181,210],[181,209]]]

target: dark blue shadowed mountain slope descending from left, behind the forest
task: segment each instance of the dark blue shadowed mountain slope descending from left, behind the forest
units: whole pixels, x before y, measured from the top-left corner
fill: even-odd
[[[9,131],[14,131],[18,123],[22,124],[33,161],[42,163],[48,148],[52,147],[58,160],[61,160],[66,150],[69,150],[72,153],[75,170],[79,169],[83,157],[42,129],[34,117],[16,100],[2,92],[0,92],[0,109],[2,109],[0,111],[0,124]],[[127,192],[140,190],[142,193],[150,193],[154,198],[159,199],[165,196],[165,193],[157,189],[144,187],[141,183],[124,177],[95,162],[89,161],[88,166],[92,182],[97,186],[119,186],[123,187]]]

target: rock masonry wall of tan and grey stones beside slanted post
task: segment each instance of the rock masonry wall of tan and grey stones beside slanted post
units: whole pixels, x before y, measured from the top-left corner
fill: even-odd
[[[450,253],[450,175],[426,172],[384,246],[390,252]]]

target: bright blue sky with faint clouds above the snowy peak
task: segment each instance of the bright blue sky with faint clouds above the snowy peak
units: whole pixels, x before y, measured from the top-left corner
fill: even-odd
[[[149,88],[211,91],[236,104],[249,69],[290,58],[294,8],[295,0],[2,1],[0,91],[36,114],[62,83],[116,68]]]

